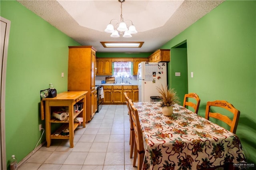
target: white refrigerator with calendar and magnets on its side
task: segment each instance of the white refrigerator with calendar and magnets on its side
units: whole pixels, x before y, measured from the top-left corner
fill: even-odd
[[[137,81],[139,102],[150,101],[151,96],[159,96],[156,87],[167,85],[167,63],[139,63]]]

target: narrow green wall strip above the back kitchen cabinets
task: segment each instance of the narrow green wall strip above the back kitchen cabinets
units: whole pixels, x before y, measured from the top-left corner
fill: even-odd
[[[136,58],[136,57],[138,57],[138,58],[147,58],[152,53],[104,53],[104,52],[97,52],[96,57],[98,57],[98,58],[105,58],[105,57],[106,58]]]

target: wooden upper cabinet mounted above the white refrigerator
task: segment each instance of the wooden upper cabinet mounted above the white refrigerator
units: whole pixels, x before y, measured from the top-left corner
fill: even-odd
[[[152,53],[148,58],[149,62],[169,62],[170,49],[158,49],[154,53]]]

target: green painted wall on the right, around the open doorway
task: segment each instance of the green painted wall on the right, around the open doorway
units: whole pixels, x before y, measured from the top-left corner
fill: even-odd
[[[188,92],[201,98],[198,114],[204,117],[207,101],[214,100],[226,100],[239,109],[236,134],[248,162],[255,164],[256,1],[225,1],[161,48],[171,49],[185,40]]]

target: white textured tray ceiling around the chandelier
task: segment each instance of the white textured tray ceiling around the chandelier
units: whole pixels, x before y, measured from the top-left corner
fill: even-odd
[[[124,20],[132,20],[137,34],[112,38],[104,32],[111,19],[120,21],[118,0],[18,0],[81,45],[98,52],[153,52],[223,0],[125,0]],[[129,25],[130,23],[127,22]],[[144,42],[141,48],[104,48],[100,42]]]

